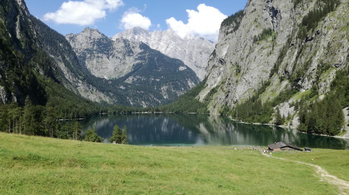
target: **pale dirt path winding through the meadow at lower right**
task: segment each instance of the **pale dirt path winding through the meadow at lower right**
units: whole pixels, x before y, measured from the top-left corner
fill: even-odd
[[[264,155],[264,156],[270,157],[268,154],[264,154],[263,152],[261,152],[261,154]],[[305,162],[300,162],[300,161],[293,161],[293,160],[276,158],[276,157],[273,157],[273,158],[280,159],[280,160],[287,160],[287,161],[292,161],[292,162],[297,162],[297,163],[300,163],[300,164],[313,166],[313,167],[316,168],[316,172],[320,175],[320,179],[322,181],[327,181],[329,184],[338,186],[339,191],[341,192],[341,194],[342,195],[347,195],[346,192],[349,189],[349,182],[348,181],[344,181],[342,179],[337,178],[336,176],[333,176],[333,175],[329,174],[327,171],[322,169],[320,166],[314,165],[314,164],[305,163]]]

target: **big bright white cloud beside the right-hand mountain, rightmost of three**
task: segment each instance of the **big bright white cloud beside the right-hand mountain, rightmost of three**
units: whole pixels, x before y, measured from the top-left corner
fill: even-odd
[[[199,35],[206,39],[217,41],[222,21],[227,18],[220,10],[200,4],[198,11],[186,10],[188,23],[177,21],[174,17],[166,19],[166,24],[181,38],[188,35]]]

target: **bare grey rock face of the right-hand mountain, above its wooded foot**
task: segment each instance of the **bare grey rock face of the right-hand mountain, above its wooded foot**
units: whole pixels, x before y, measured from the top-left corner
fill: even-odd
[[[312,33],[304,40],[298,39],[303,18],[317,6],[316,0],[298,4],[292,0],[249,0],[238,22],[222,23],[207,67],[207,87],[201,91],[200,99],[217,88],[209,102],[209,109],[217,113],[224,105],[233,107],[243,102],[267,80],[271,84],[260,95],[263,101],[272,100],[294,82],[299,86],[297,96],[279,105],[285,116],[295,114],[289,103],[315,83],[321,98],[329,91],[336,71],[348,66],[349,6],[348,0],[341,0]],[[267,29],[272,33],[255,39]],[[326,70],[318,75],[324,67]],[[292,76],[297,80],[291,81]]]

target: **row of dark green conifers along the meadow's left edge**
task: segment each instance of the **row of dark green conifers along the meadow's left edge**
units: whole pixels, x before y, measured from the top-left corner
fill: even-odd
[[[29,97],[24,107],[0,103],[0,130],[23,135],[81,140],[82,127],[72,120],[62,125],[54,107],[34,105]]]

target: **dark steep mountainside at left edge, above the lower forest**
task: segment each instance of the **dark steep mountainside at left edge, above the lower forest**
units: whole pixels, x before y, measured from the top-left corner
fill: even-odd
[[[29,96],[34,103],[45,104],[47,91],[45,84],[39,81],[41,76],[86,98],[110,100],[72,74],[72,71],[83,74],[83,70],[69,43],[30,15],[24,1],[6,0],[0,5],[0,91],[3,103],[10,100],[24,104],[24,99]]]

